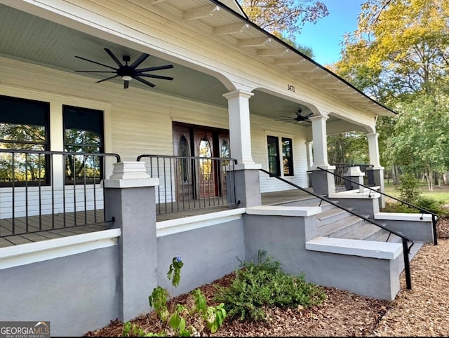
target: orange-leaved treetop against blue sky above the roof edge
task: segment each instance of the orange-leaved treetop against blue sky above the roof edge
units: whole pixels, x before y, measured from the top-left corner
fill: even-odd
[[[304,22],[316,23],[328,8],[316,0],[239,0],[248,18],[276,36],[293,37]]]

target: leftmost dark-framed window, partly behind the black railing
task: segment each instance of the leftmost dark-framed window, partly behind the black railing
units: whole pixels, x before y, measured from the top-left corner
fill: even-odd
[[[50,161],[33,151],[50,149],[49,116],[48,102],[0,95],[0,185],[48,184]]]

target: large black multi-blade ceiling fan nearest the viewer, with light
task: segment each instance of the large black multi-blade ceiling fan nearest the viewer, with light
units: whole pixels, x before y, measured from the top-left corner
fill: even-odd
[[[140,57],[135,60],[131,65],[128,65],[128,62],[130,62],[130,56],[129,55],[123,55],[122,60],[123,62],[125,62],[125,64],[123,65],[123,63],[121,63],[119,61],[118,58],[116,58],[116,56],[114,55],[114,53],[112,53],[111,50],[109,50],[109,48],[104,48],[106,53],[112,58],[112,60],[114,60],[114,62],[116,63],[117,66],[119,66],[118,68],[114,68],[108,65],[104,65],[100,62],[96,62],[93,60],[89,60],[86,58],[82,58],[81,56],[76,56],[75,58],[79,58],[81,60],[85,60],[88,62],[92,62],[95,63],[95,65],[100,65],[102,67],[107,67],[109,69],[109,71],[101,71],[101,70],[76,70],[75,72],[80,72],[80,73],[112,73],[115,75],[109,76],[106,79],[102,79],[102,80],[98,80],[96,83],[100,83],[103,81],[107,81],[107,80],[111,80],[111,79],[115,79],[116,77],[121,77],[121,79],[123,80],[123,88],[127,89],[129,88],[129,81],[131,81],[132,79],[135,79],[141,83],[144,83],[145,85],[149,86],[149,87],[155,87],[156,85],[154,83],[151,83],[145,79],[142,79],[140,76],[145,76],[145,77],[149,77],[149,78],[153,78],[153,79],[161,79],[161,80],[173,80],[173,77],[170,76],[161,76],[161,75],[156,75],[156,74],[145,74],[146,72],[154,72],[155,70],[163,70],[163,69],[170,69],[173,68],[173,65],[164,65],[164,66],[156,66],[156,67],[147,67],[147,68],[141,68],[138,69],[138,67],[142,64],[142,62],[144,62],[148,57],[149,54],[147,53],[142,53],[142,55],[140,55]]]

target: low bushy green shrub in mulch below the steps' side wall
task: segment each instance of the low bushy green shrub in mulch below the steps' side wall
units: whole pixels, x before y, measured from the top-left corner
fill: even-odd
[[[302,305],[304,308],[320,304],[326,295],[304,275],[290,276],[281,271],[281,264],[267,252],[259,250],[257,262],[241,262],[236,278],[229,288],[218,288],[215,299],[223,302],[230,318],[264,320],[263,306]]]

